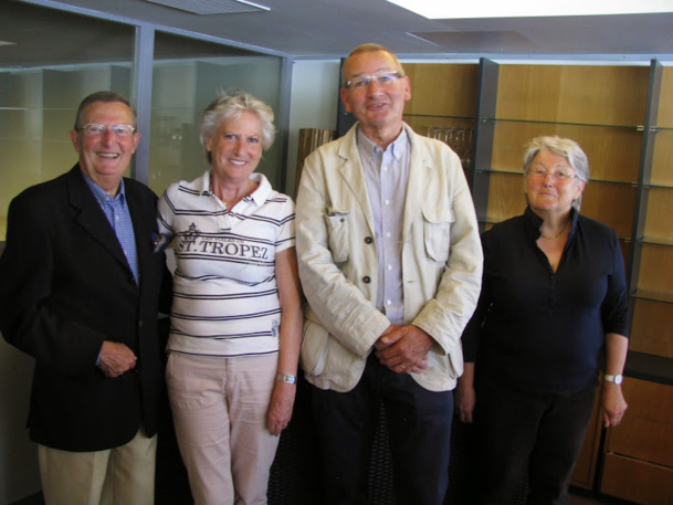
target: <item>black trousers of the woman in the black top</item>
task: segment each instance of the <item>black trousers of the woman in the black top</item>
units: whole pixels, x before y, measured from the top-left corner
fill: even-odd
[[[481,380],[476,436],[481,504],[513,504],[528,471],[529,505],[564,505],[596,390],[572,396],[515,391]]]

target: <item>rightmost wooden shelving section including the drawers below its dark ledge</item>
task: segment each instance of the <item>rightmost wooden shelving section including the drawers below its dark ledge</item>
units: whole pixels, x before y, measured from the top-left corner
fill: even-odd
[[[643,126],[631,267],[629,410],[608,432],[600,491],[673,501],[673,69],[654,62]]]

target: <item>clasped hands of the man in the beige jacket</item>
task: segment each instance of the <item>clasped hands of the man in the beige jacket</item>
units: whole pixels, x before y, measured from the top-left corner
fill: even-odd
[[[433,338],[418,326],[390,325],[374,343],[381,365],[396,374],[420,374],[428,368]]]

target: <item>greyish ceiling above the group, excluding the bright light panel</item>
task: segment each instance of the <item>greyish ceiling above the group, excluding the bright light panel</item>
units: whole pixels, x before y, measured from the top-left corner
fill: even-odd
[[[124,23],[139,21],[165,27],[173,33],[196,32],[206,40],[232,41],[242,49],[295,57],[338,57],[360,43],[377,42],[402,56],[673,60],[673,0],[672,12],[665,14],[482,20],[429,20],[386,0],[254,0],[270,10],[207,15],[156,1],[0,0],[0,40],[23,44],[0,45],[0,62],[7,66],[18,57],[13,54],[19,49],[25,57],[28,48],[34,52],[31,57],[40,60],[41,51],[56,52],[69,39],[77,40],[76,46],[69,48],[74,60],[77,52],[85,51],[91,57],[114,44],[115,29],[97,25],[90,18],[81,18],[80,22],[72,13],[103,14],[119,21],[119,36],[128,31]],[[194,1],[179,3],[189,6]],[[43,7],[57,7],[71,13]],[[38,12],[45,14],[41,23],[33,19]],[[56,28],[57,35],[50,33],[50,25]],[[88,32],[90,44],[82,44],[80,31]]]

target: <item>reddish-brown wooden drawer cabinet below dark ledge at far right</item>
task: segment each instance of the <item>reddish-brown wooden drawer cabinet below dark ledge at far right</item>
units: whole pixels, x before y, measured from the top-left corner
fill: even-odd
[[[629,410],[608,430],[600,491],[645,505],[673,503],[673,386],[625,378]]]

